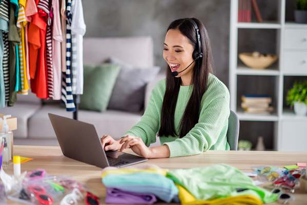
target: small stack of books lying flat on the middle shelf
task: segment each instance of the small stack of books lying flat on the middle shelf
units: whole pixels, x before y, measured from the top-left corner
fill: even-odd
[[[243,95],[241,107],[244,113],[270,115],[274,111],[272,98],[267,95]]]

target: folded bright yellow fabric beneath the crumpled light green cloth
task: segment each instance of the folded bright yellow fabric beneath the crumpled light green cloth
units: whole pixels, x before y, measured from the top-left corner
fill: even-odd
[[[262,201],[252,195],[231,196],[213,200],[197,200],[181,185],[176,184],[179,194],[178,197],[182,205],[262,205]]]

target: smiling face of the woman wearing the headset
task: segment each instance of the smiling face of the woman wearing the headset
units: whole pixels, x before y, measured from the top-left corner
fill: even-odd
[[[193,62],[193,51],[194,47],[190,44],[189,39],[178,29],[169,29],[167,31],[164,41],[163,58],[172,72],[180,72]],[[191,74],[194,65],[195,62],[176,77],[179,78],[185,74]]]

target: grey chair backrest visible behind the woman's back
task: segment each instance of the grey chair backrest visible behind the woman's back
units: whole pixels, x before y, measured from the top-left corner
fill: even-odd
[[[238,150],[240,122],[237,114],[231,110],[228,118],[227,141],[231,150]]]

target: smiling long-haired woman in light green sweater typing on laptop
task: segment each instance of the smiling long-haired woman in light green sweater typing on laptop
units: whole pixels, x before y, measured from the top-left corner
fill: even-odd
[[[229,91],[211,72],[212,50],[204,25],[197,18],[172,22],[165,36],[166,79],[151,91],[140,122],[119,140],[104,135],[105,150],[131,148],[145,158],[229,150],[226,138]],[[160,137],[161,146],[148,147]]]

